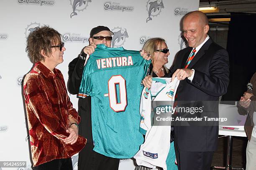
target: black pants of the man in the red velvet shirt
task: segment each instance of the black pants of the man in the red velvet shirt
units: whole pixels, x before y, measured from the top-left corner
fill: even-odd
[[[72,159],[55,159],[50,162],[35,166],[33,170],[73,170]]]

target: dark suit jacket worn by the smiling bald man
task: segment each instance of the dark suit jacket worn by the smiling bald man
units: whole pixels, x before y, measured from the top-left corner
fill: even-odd
[[[166,77],[171,77],[177,69],[184,68],[191,51],[192,47],[179,51]],[[188,68],[195,70],[194,78],[192,82],[187,78],[179,82],[176,100],[216,101],[207,105],[207,109],[215,111],[214,114],[218,117],[219,96],[227,92],[229,82],[228,52],[209,39],[197,52]],[[205,112],[202,112],[202,116],[204,114]],[[174,133],[179,150],[205,152],[217,149],[218,125],[174,126]]]

